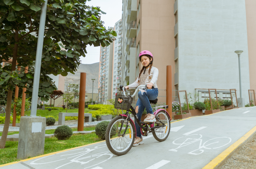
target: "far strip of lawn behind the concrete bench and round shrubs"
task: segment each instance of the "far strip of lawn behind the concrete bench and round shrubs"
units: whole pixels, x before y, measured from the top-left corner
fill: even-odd
[[[95,111],[95,110],[90,110],[88,108],[85,108],[84,112],[85,113],[90,113],[90,111]],[[66,110],[36,110],[36,115],[41,116],[41,117],[46,117],[46,116],[53,116],[55,119],[59,118],[59,113],[66,113]],[[78,109],[68,109],[67,113],[78,113]],[[28,115],[30,116],[30,110],[25,111],[25,116]]]

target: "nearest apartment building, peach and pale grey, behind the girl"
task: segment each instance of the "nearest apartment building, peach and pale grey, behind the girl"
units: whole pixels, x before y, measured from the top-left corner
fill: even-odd
[[[236,88],[239,98],[234,51],[242,49],[242,97],[249,102],[248,89],[256,90],[255,7],[254,0],[123,0],[121,84],[135,81],[139,53],[149,50],[159,70],[158,89],[166,89],[166,66],[172,65],[173,90],[204,99],[208,88]],[[228,94],[219,91],[218,97]]]

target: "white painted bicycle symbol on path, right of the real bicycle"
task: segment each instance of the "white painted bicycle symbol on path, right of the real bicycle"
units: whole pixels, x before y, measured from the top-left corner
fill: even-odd
[[[194,142],[199,142],[199,147],[188,153],[188,154],[192,154],[192,155],[199,155],[204,152],[203,148],[205,148],[205,149],[220,148],[220,147],[223,147],[231,142],[231,138],[229,138],[229,137],[216,137],[214,139],[207,140],[206,142],[204,142],[202,144],[202,142],[203,142],[203,139],[201,139],[202,137],[203,136],[201,134],[192,134],[192,135],[180,137],[173,141],[173,144],[179,145],[179,146],[175,149],[171,149],[170,151],[177,152],[178,148],[190,145]],[[200,152],[197,153],[198,151],[200,151]]]

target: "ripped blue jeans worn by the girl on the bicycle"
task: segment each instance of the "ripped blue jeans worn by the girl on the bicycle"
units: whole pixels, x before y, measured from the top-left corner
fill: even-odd
[[[136,107],[139,106],[137,116],[140,121],[142,113],[145,108],[147,110],[147,113],[153,114],[153,110],[149,103],[149,100],[155,100],[157,98],[158,88],[148,89],[145,92],[139,91],[138,96],[139,98],[137,100]],[[141,127],[137,124],[136,120],[134,121],[135,121],[135,127],[136,127],[136,136],[142,138],[141,132],[140,132]]]

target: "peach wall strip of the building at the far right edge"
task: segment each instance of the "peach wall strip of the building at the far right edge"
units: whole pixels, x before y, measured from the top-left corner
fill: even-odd
[[[246,23],[247,23],[247,38],[248,38],[248,57],[249,57],[249,71],[250,71],[250,89],[256,91],[256,1],[245,0],[246,8]],[[245,100],[247,103],[248,100]]]

